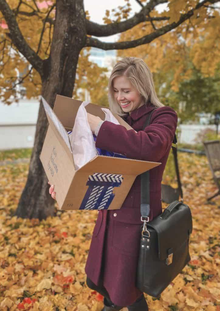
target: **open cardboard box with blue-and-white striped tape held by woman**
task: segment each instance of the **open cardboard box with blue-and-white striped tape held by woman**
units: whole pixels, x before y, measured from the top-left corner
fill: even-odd
[[[40,160],[50,183],[54,184],[61,210],[119,209],[136,176],[161,164],[97,155],[76,171],[67,131],[73,129],[82,101],[57,95],[52,110],[42,100],[49,127]],[[101,106],[88,104],[86,110],[105,119]],[[115,117],[125,128],[132,129],[118,115]]]

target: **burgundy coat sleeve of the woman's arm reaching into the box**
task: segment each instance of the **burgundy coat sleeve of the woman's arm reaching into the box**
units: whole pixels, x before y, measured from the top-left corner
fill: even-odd
[[[144,131],[127,130],[104,121],[96,138],[96,147],[123,154],[130,159],[159,161],[171,147],[177,126],[177,114],[168,106],[156,109]]]

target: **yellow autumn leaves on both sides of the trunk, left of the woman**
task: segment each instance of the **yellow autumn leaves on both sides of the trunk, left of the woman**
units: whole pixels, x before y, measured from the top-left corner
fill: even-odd
[[[29,46],[43,60],[50,55],[51,41],[53,38],[55,20],[55,1],[8,1],[12,11],[16,15],[16,21],[21,33]],[[19,13],[18,13],[19,12]],[[86,16],[89,19],[88,12]],[[89,61],[87,53],[81,50],[79,55],[77,74],[75,80],[74,98],[84,98],[84,94],[77,93],[79,88],[87,87],[91,91],[91,101],[106,105],[104,93],[107,86],[106,68],[101,68]],[[42,81],[37,72],[26,58],[12,44],[7,23],[0,11],[0,60],[1,60],[1,100],[6,104],[18,101],[20,93],[25,90],[27,98],[36,98],[41,94]],[[94,79],[96,77],[96,79]],[[22,86],[20,90],[19,86]],[[13,97],[10,98],[10,96]]]

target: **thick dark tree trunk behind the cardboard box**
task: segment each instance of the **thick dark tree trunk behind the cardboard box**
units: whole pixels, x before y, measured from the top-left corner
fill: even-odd
[[[85,12],[81,0],[57,0],[56,21],[50,58],[44,62],[42,96],[54,106],[56,95],[72,97],[80,50],[86,40]],[[40,161],[40,152],[48,128],[42,102],[36,125],[34,148],[25,188],[15,215],[45,219],[54,215],[54,199]]]

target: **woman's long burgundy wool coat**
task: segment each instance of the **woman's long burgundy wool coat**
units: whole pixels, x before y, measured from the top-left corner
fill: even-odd
[[[127,158],[161,162],[150,170],[150,221],[161,214],[161,180],[177,126],[177,114],[168,107],[157,108],[151,124],[143,131],[147,103],[124,120],[137,132],[105,121],[96,139],[96,147],[124,154]],[[119,210],[100,210],[91,239],[85,272],[98,285],[104,258],[103,285],[111,301],[128,306],[142,294],[135,286],[141,230],[141,176],[135,179]],[[104,243],[105,242],[105,243]]]

